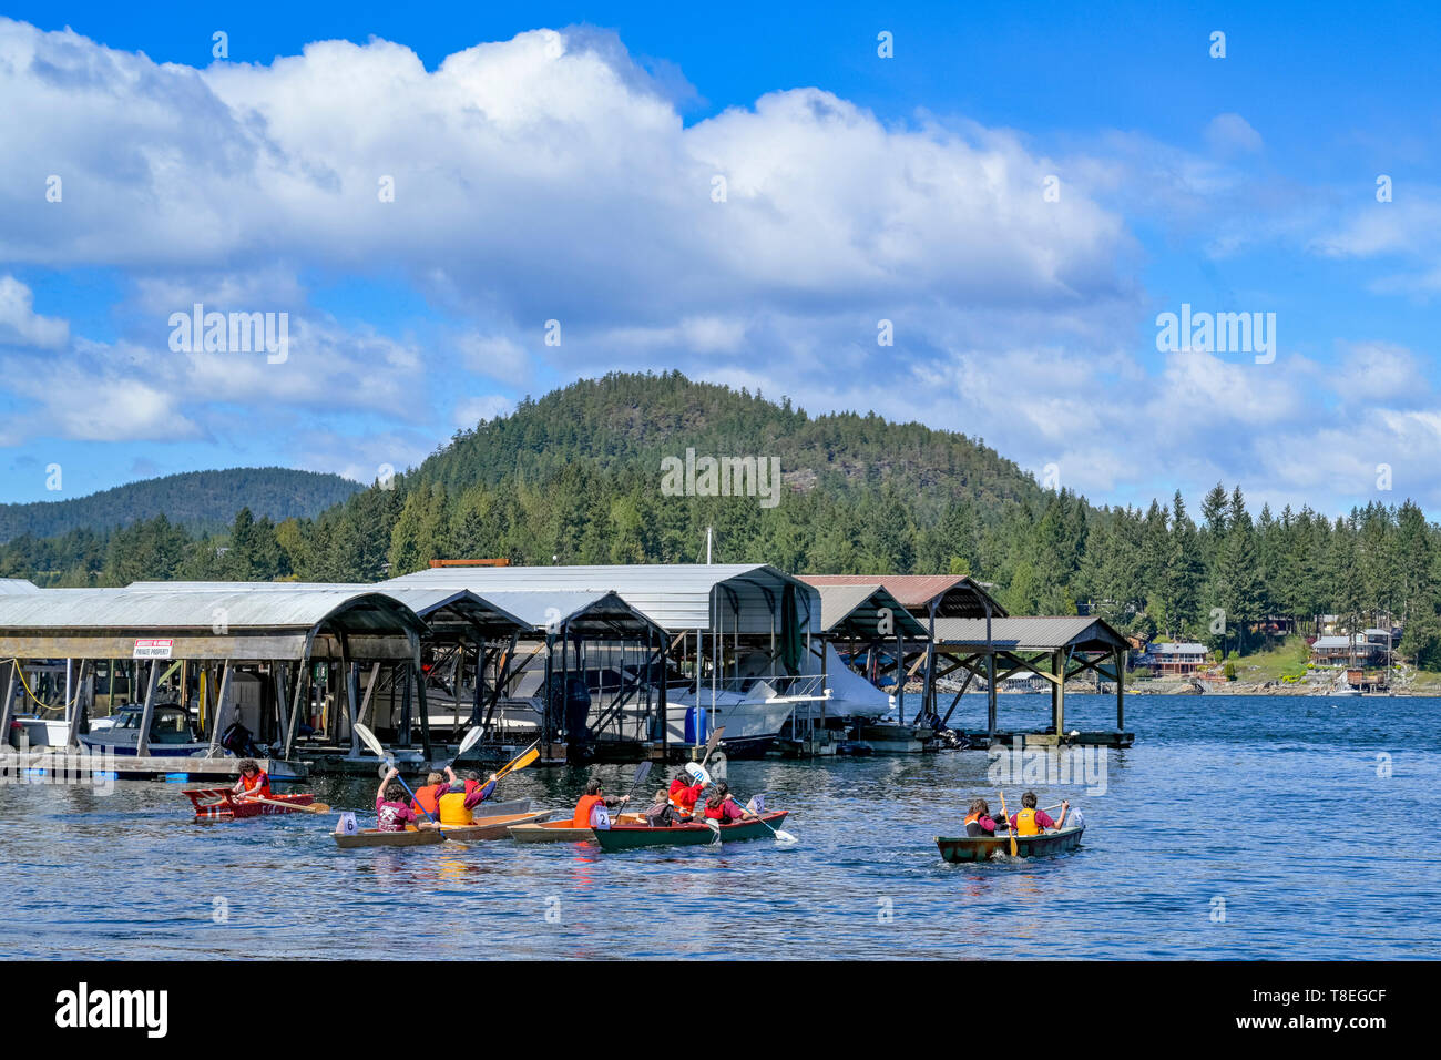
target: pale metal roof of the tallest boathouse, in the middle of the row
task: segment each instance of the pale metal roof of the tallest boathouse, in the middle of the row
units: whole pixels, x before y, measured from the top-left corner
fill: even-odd
[[[597,567],[435,567],[380,583],[452,586],[483,599],[501,591],[614,591],[661,629],[769,633],[780,624],[781,591],[795,586],[803,629],[820,633],[820,594],[804,581],[767,564],[634,564]]]

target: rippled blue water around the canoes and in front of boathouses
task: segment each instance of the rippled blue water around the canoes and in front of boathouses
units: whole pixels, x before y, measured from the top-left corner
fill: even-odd
[[[967,705],[973,697],[967,697]],[[974,698],[970,724],[984,701]],[[1066,697],[1068,725],[1114,724]],[[1004,697],[1004,724],[1043,724]],[[960,711],[953,724],[961,721]],[[340,851],[331,816],[195,825],[179,785],[0,787],[10,958],[1435,958],[1441,699],[1134,697],[1105,792],[1035,785],[1087,818],[1081,851],[947,865],[983,751],[736,761],[797,816],[795,847]],[[1378,776],[1379,756],[1392,776]],[[631,767],[602,767],[608,790]],[[625,777],[627,780],[623,780]],[[569,805],[584,770],[503,798]],[[657,774],[659,779],[659,774]],[[657,785],[650,785],[653,792]],[[317,785],[337,809],[373,783]],[[1017,800],[1022,787],[1007,786]],[[228,907],[216,923],[215,900]],[[1216,922],[1218,898],[1225,920]],[[549,911],[549,917],[548,917]]]

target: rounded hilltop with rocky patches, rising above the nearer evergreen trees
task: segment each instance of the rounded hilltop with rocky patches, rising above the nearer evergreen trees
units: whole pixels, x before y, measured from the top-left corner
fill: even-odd
[[[608,473],[641,470],[660,480],[664,457],[775,457],[791,490],[833,495],[889,483],[937,503],[965,498],[983,505],[1032,502],[1036,480],[996,450],[964,434],[918,423],[888,423],[875,412],[807,415],[778,402],[680,372],[614,372],[581,379],[509,417],[461,431],[409,476],[450,493],[497,486],[514,476],[540,482],[585,461]]]

